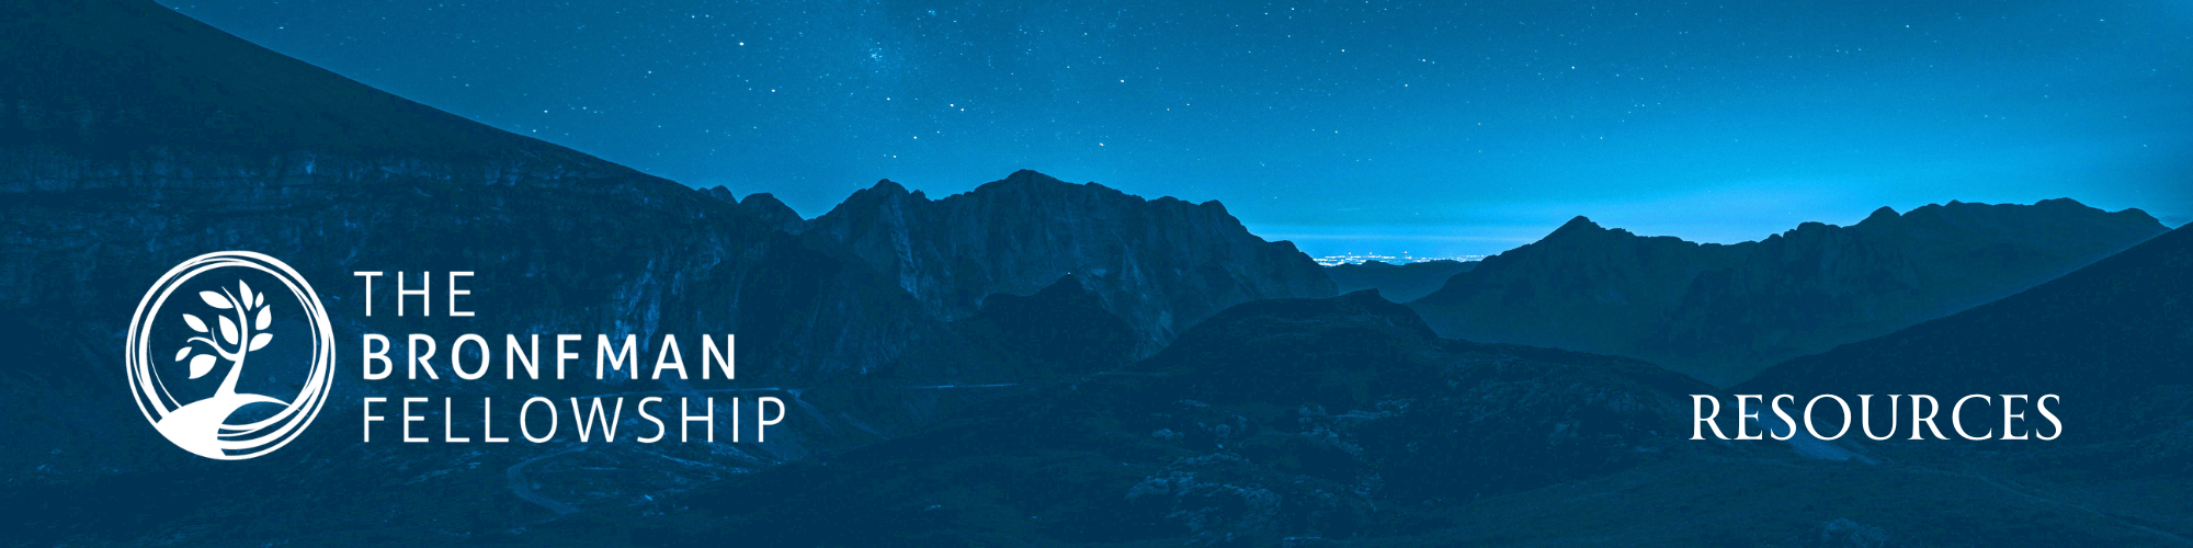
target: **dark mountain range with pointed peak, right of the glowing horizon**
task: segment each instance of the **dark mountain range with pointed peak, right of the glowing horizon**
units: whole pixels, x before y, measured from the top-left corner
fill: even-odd
[[[1732,246],[1577,217],[1414,307],[1441,335],[1627,355],[1735,384],[1781,359],[1969,309],[2167,228],[2072,199],[1950,202]]]

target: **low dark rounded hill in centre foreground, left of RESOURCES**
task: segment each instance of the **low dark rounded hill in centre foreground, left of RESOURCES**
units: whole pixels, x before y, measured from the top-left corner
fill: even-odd
[[[1375,292],[1257,300],[1127,370],[603,520],[671,546],[1388,537],[1458,526],[1445,509],[1478,498],[1717,454],[1675,436],[1697,390],[1621,357],[1441,340]]]

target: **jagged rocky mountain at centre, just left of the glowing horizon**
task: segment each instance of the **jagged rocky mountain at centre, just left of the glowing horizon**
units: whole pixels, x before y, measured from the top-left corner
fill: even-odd
[[[1333,296],[1294,243],[1250,235],[1219,202],[1143,199],[1035,171],[943,199],[877,182],[809,219],[803,237],[897,278],[952,320],[991,294],[1077,276],[1134,327],[1136,355],[1230,305]]]

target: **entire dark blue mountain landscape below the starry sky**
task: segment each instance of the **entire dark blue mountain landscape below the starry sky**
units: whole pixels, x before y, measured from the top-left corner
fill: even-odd
[[[2138,210],[1952,202],[1735,246],[1579,217],[1482,263],[1320,270],[1217,202],[1035,171],[941,199],[879,182],[800,219],[151,2],[0,4],[0,500],[20,506],[0,513],[4,544],[2193,535],[2193,232]],[[211,250],[298,267],[338,340],[737,333],[739,381],[357,381],[342,351],[307,436],[213,463],[167,447],[121,381],[138,296]],[[351,313],[364,267],[478,272],[480,316]],[[2055,392],[2066,436],[1836,445],[1862,458],[1689,441],[1689,397],[1741,379],[1732,390]],[[522,395],[774,395],[794,416],[768,443],[355,443],[362,397]],[[621,427],[649,430],[634,414]]]

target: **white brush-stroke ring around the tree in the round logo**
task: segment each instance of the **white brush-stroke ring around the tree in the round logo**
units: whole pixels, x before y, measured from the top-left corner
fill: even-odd
[[[241,298],[237,298],[235,294],[226,294],[226,289],[221,289],[221,294],[226,294],[226,300],[215,298],[217,296],[215,292],[204,292],[206,305],[213,305],[215,309],[224,311],[237,311],[235,322],[226,316],[215,318],[221,324],[221,340],[226,340],[230,346],[221,346],[219,344],[221,340],[215,340],[215,331],[206,327],[206,322],[202,322],[200,318],[186,313],[182,316],[184,320],[189,320],[193,331],[204,333],[204,338],[193,338],[193,342],[204,342],[204,346],[208,349],[206,355],[193,357],[191,377],[204,375],[204,370],[200,368],[200,359],[204,359],[206,368],[211,368],[211,364],[219,359],[232,362],[232,370],[221,390],[215,397],[186,403],[169,395],[167,386],[160,381],[160,373],[154,368],[156,362],[151,362],[156,346],[151,340],[154,331],[151,327],[160,318],[160,309],[167,305],[167,298],[175,294],[175,289],[182,283],[200,274],[228,267],[257,270],[279,278],[289,289],[289,296],[296,298],[303,311],[300,318],[305,318],[305,322],[311,327],[311,373],[305,379],[303,390],[294,399],[283,401],[263,395],[232,392],[235,379],[243,366],[243,355],[248,355],[248,351],[257,351],[259,346],[263,346],[263,342],[254,340],[254,335],[248,335],[252,320],[243,311],[250,309],[261,311],[257,329],[259,331],[268,329],[265,294],[259,294],[254,298],[250,289],[241,289],[243,294]],[[243,338],[239,340],[232,329],[243,329]],[[259,333],[257,338],[270,338],[270,335]],[[167,355],[167,351],[175,351],[175,346],[160,346],[160,349],[162,357]],[[180,353],[175,355],[175,362],[182,362],[189,351],[193,349],[184,344],[184,349],[180,349]],[[296,270],[292,270],[283,261],[257,252],[208,252],[191,261],[184,261],[182,265],[175,265],[164,276],[160,276],[160,281],[154,283],[149,292],[145,292],[145,298],[138,300],[136,316],[129,318],[129,340],[125,353],[127,353],[125,362],[129,370],[129,388],[136,395],[138,410],[145,412],[145,421],[151,421],[154,430],[158,430],[178,447],[217,460],[254,458],[281,449],[289,441],[296,441],[296,436],[303,434],[307,425],[311,425],[311,419],[320,414],[320,406],[327,403],[327,390],[336,373],[336,333],[327,322],[327,309],[320,307],[320,294],[316,294],[311,285],[305,283],[305,276],[296,274]],[[254,423],[228,425],[226,423],[228,414],[246,403],[281,403],[285,408]]]

